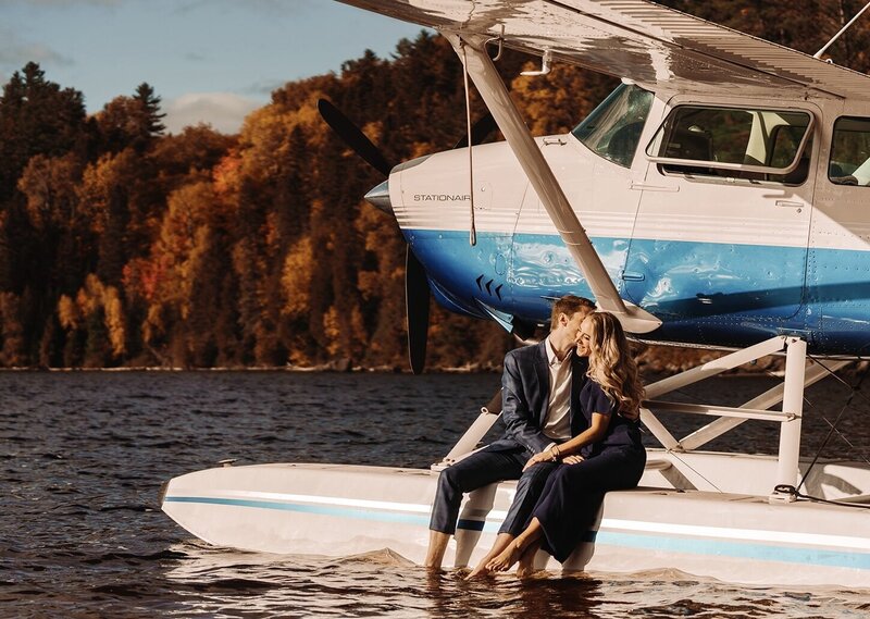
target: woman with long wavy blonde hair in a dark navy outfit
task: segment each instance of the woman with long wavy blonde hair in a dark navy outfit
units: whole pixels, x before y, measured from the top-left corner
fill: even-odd
[[[591,502],[597,506],[607,491],[635,487],[644,473],[638,428],[644,388],[622,325],[613,314],[589,314],[577,332],[577,351],[589,357],[591,380],[580,394],[588,429],[529,461],[526,467],[547,459],[564,466],[547,480],[530,524],[486,571],[520,561],[518,575],[526,575],[539,547],[564,562],[586,532]]]

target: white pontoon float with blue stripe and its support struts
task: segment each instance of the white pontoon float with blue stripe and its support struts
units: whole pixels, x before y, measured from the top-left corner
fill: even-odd
[[[657,399],[783,350],[787,355],[783,383],[739,408]],[[638,488],[606,495],[588,542],[563,568],[599,572],[675,568],[731,582],[870,589],[870,466],[820,460],[803,479],[809,463],[798,458],[804,387],[843,364],[807,366],[805,343],[783,336],[648,385],[650,399],[642,420],[663,448],[648,450]],[[781,411],[770,410],[781,401]],[[678,441],[656,418],[658,410],[717,419]],[[431,470],[228,466],[171,480],[163,488],[162,508],[187,531],[217,546],[331,556],[388,547],[422,562],[438,470],[474,449],[497,417],[483,409]],[[697,450],[747,420],[781,423],[776,457]],[[465,500],[446,566],[473,565],[483,556],[514,487],[513,482],[504,482]],[[542,553],[538,560],[543,566],[548,557]],[[547,567],[560,569],[552,559]]]

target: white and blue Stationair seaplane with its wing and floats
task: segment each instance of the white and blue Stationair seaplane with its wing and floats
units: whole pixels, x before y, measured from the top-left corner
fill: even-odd
[[[408,243],[415,371],[430,296],[527,338],[573,293],[637,341],[723,350],[647,385],[660,447],[641,485],[608,493],[588,543],[540,566],[870,589],[870,463],[800,456],[805,387],[870,350],[870,77],[644,0],[346,3],[446,37],[505,137],[475,144],[465,110],[467,144],[393,166],[322,107],[388,176],[368,199]],[[572,132],[533,137],[496,71],[505,48],[539,57],[531,73],[572,63],[621,83]],[[663,399],[767,355],[784,356],[782,383],[739,407]],[[680,437],[674,413],[707,420]],[[431,469],[216,467],[170,480],[162,509],[217,546],[421,562],[438,471],[497,419],[483,407]],[[776,455],[703,449],[758,420],[779,429]],[[483,556],[514,487],[468,497],[447,564]]]

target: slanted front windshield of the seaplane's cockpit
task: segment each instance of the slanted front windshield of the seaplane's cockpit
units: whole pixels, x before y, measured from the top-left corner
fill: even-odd
[[[652,92],[620,84],[571,133],[593,152],[631,168],[651,104]]]

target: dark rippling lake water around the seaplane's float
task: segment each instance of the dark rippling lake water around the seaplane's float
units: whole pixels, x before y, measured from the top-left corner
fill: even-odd
[[[739,405],[770,382],[717,379],[679,397]],[[496,374],[0,372],[0,616],[870,616],[867,591],[745,587],[670,571],[465,583],[388,550],[227,552],[158,508],[163,481],[224,458],[427,467],[498,385]],[[804,454],[842,412],[826,454],[869,457],[870,406],[859,391],[844,408],[849,393],[832,380],[808,389]],[[678,434],[688,429],[673,421]],[[773,424],[746,423],[710,448],[773,453],[776,442]]]

